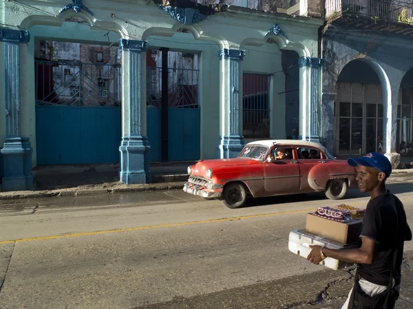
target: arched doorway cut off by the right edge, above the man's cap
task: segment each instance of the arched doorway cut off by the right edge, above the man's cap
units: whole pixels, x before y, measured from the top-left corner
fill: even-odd
[[[396,150],[401,155],[412,155],[413,68],[405,73],[399,90],[397,105]]]

